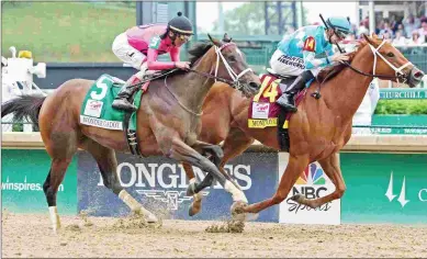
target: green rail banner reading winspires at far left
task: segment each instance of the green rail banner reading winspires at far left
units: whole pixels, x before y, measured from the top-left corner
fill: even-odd
[[[50,169],[46,150],[1,149],[2,207],[14,213],[47,213],[43,183]],[[59,214],[77,213],[77,157],[57,193]]]

